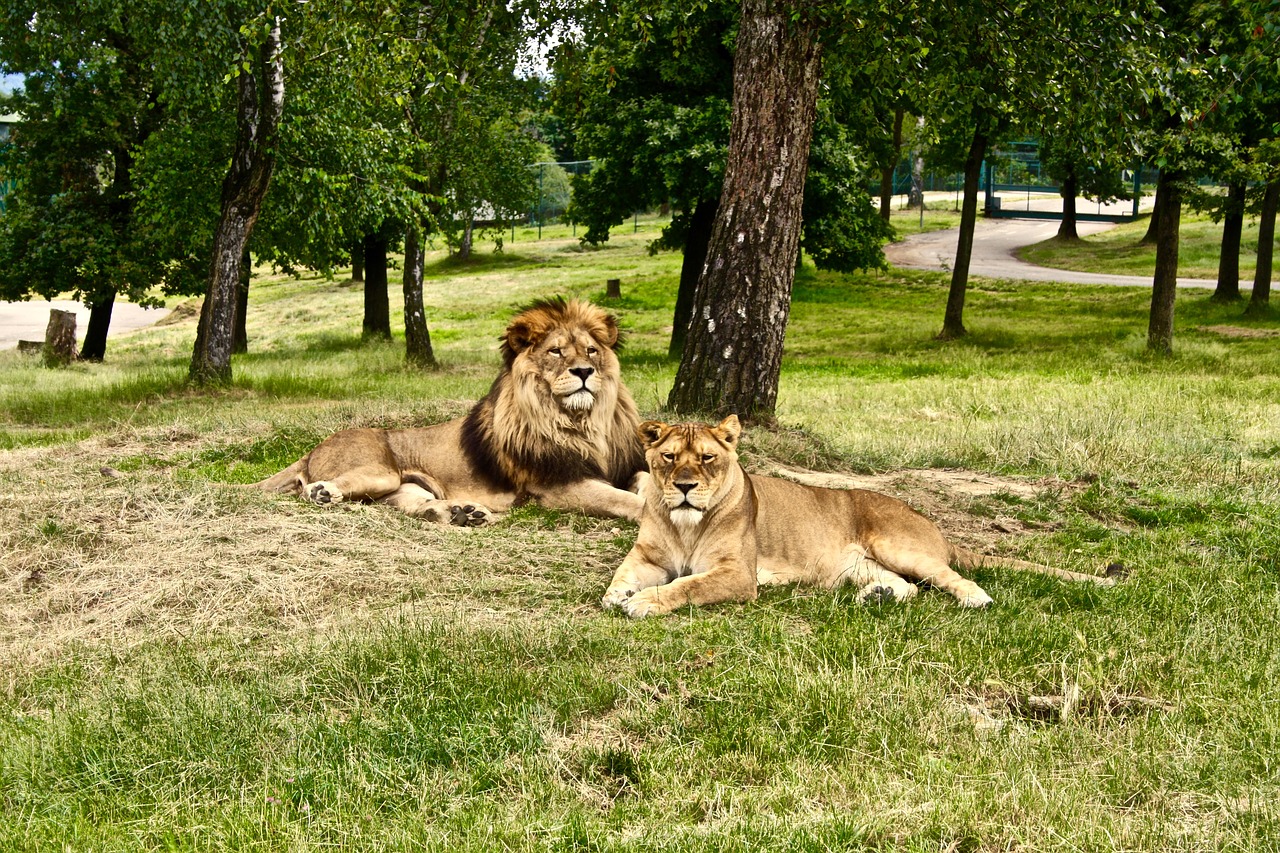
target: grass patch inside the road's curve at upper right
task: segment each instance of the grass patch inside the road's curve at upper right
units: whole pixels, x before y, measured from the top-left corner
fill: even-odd
[[[1151,275],[1156,269],[1156,246],[1144,245],[1147,218],[1091,234],[1079,242],[1064,243],[1057,238],[1027,246],[1018,256],[1041,266],[1076,269],[1088,273],[1117,275]],[[1183,213],[1178,247],[1178,274],[1185,278],[1217,279],[1217,261],[1222,243],[1222,224],[1203,214]],[[1258,252],[1258,220],[1244,220],[1240,237],[1240,278],[1253,282]],[[1248,284],[1245,286],[1248,287]]]

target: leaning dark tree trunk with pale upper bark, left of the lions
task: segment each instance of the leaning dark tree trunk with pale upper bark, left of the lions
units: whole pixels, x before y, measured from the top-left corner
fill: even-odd
[[[232,380],[236,291],[244,246],[275,168],[276,131],[283,109],[284,61],[280,19],[276,18],[250,69],[242,70],[238,79],[236,152],[223,181],[223,209],[214,232],[209,292],[191,357],[189,379],[196,384]]]

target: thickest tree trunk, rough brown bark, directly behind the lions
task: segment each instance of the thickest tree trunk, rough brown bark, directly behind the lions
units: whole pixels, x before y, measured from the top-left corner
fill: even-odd
[[[742,0],[724,187],[668,405],[772,419],[818,101],[817,27]]]

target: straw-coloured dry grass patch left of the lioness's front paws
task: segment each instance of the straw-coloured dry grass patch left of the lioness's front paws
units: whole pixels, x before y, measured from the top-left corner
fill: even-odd
[[[406,603],[536,615],[585,605],[621,558],[618,523],[466,530],[193,478],[175,456],[210,443],[166,429],[0,453],[0,669],[104,640],[324,633]],[[156,466],[118,470],[140,457]]]

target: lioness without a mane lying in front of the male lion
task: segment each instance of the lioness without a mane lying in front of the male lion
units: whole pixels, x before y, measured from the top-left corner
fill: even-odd
[[[952,564],[1115,583],[974,553],[886,494],[748,474],[737,461],[742,428],[735,415],[718,426],[650,420],[639,432],[650,473],[641,489],[640,534],[603,599],[628,616],[751,601],[758,583],[797,580],[828,589],[855,584],[859,601],[905,601],[916,593],[911,578],[947,590],[961,607],[989,605],[991,596]]]

